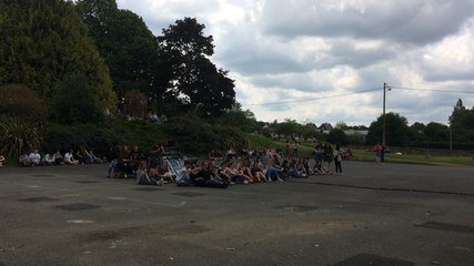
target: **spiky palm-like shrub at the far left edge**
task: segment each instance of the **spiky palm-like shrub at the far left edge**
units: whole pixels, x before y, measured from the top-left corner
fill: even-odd
[[[0,153],[19,157],[41,143],[39,125],[16,116],[0,115]]]

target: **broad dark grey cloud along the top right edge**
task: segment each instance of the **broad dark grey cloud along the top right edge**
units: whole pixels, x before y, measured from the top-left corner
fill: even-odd
[[[263,31],[297,35],[383,38],[426,44],[455,33],[474,13],[471,0],[364,1],[344,7],[332,0],[266,1]]]

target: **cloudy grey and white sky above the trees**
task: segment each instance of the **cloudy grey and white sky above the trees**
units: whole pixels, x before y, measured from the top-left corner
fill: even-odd
[[[370,125],[383,110],[447,123],[474,105],[474,0],[118,0],[159,35],[184,17],[214,38],[260,121]]]

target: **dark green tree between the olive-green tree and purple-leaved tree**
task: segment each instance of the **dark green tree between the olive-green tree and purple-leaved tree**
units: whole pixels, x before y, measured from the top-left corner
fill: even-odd
[[[119,99],[130,90],[159,98],[158,43],[143,19],[118,9],[115,0],[79,0],[77,7],[110,68]]]

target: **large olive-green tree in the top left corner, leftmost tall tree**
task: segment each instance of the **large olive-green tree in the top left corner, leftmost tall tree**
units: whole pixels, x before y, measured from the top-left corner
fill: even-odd
[[[22,83],[43,99],[84,73],[98,104],[115,105],[109,69],[70,1],[0,1],[0,85]]]

